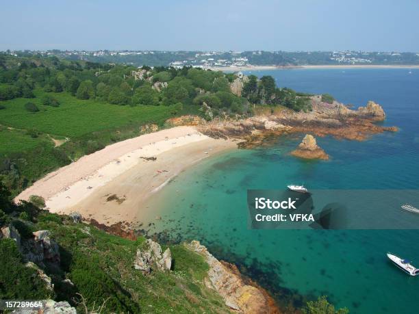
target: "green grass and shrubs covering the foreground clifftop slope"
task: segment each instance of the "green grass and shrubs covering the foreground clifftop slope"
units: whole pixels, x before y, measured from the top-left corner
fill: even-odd
[[[110,235],[39,209],[39,197],[31,201],[15,205],[0,181],[0,228],[14,226],[21,246],[40,230],[50,231],[51,239],[58,242],[60,261],[38,263],[53,287],[25,264],[14,239],[0,237],[0,299],[68,301],[79,313],[85,313],[84,305],[91,310],[104,301],[102,313],[229,313],[224,300],[205,285],[209,266],[183,244],[163,247],[169,247],[172,254],[170,272],[156,270],[145,276],[133,265],[144,237],[131,240]],[[308,302],[303,312],[348,313],[335,311],[324,297]]]

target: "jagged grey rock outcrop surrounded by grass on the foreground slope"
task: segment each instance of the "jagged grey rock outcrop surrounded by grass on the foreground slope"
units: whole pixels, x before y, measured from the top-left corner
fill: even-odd
[[[170,270],[172,267],[172,254],[170,248],[164,253],[162,247],[157,242],[147,239],[144,249],[138,248],[137,256],[134,260],[134,268],[141,270],[143,274],[150,274],[151,270]]]

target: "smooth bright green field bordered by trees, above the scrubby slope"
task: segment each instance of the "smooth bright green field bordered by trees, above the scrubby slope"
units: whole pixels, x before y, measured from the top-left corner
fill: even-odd
[[[130,124],[162,123],[170,118],[164,106],[120,106],[95,100],[80,100],[68,93],[45,93],[36,90],[35,99],[1,101],[0,124],[18,129],[36,129],[51,135],[77,138],[94,131],[117,129]],[[44,94],[58,99],[60,107],[42,105]],[[27,112],[25,103],[35,103],[39,112]]]

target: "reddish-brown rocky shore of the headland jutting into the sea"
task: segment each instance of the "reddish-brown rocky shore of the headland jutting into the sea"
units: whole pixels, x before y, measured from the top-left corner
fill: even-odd
[[[398,131],[397,127],[383,127],[374,122],[385,120],[383,108],[369,101],[357,110],[333,101],[325,103],[321,96],[311,96],[311,112],[294,112],[285,107],[257,112],[251,118],[213,120],[199,125],[199,131],[212,138],[244,140],[242,146],[257,146],[266,135],[284,133],[312,133],[331,135],[336,139],[366,140],[368,136],[385,131]]]

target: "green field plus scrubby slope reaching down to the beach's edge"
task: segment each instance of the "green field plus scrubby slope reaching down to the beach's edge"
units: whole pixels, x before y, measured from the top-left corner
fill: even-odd
[[[0,101],[0,180],[16,195],[48,172],[105,146],[140,135],[147,123],[164,125],[166,106],[110,105],[80,100],[66,92],[35,90],[34,99]],[[59,107],[42,105],[49,94]],[[27,102],[39,112],[28,112]],[[189,110],[190,108],[185,108]],[[53,139],[68,138],[55,147]]]

